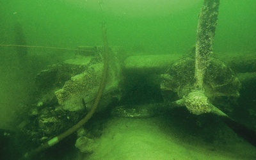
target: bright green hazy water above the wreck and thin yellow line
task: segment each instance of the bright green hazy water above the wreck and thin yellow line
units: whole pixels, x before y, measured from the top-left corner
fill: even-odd
[[[195,44],[202,1],[104,1],[109,44],[152,52],[188,51]],[[255,1],[221,1],[216,51],[255,51]],[[1,44],[13,44],[19,21],[29,45],[102,44],[98,1],[1,1]]]

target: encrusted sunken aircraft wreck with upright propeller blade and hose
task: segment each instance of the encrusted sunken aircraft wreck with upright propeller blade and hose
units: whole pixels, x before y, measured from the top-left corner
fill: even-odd
[[[186,57],[125,54],[121,47],[108,46],[106,26],[103,26],[103,47],[80,47],[87,51],[79,51],[75,59],[42,70],[36,77],[36,103],[31,104],[28,118],[20,124],[20,129],[32,141],[44,145],[25,156],[31,157],[72,134],[91,118],[94,111],[110,113],[111,116],[143,118],[181,106],[186,106],[194,115],[213,113],[220,116],[234,131],[256,145],[255,131],[228,116],[235,113],[233,106],[241,94],[241,86],[248,86],[256,79],[256,70],[247,70],[256,68],[256,59],[253,54],[237,54],[232,59],[218,53],[212,56],[219,3],[218,0],[204,1],[198,21],[196,47]],[[239,67],[241,65],[244,70]],[[141,90],[141,97],[129,97],[134,86],[140,86],[136,90]],[[147,93],[142,95],[149,92],[148,88],[157,98],[145,96],[150,95]],[[246,96],[244,94],[243,97]],[[147,103],[141,104],[142,100],[140,104],[127,103],[132,100],[128,99],[122,104],[127,97],[147,97],[144,99]],[[256,118],[255,108],[249,106],[246,112]],[[74,127],[77,124],[78,127]],[[244,129],[243,132],[241,129]],[[76,147],[81,152],[93,152],[93,138],[100,136],[100,132],[93,134],[92,131],[79,129]]]

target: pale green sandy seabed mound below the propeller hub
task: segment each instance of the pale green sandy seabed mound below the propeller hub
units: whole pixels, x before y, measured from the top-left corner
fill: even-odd
[[[225,142],[209,143],[196,135],[182,138],[172,123],[157,117],[112,118],[95,152],[84,159],[256,159],[256,148],[234,133]]]

